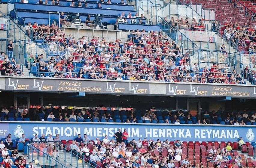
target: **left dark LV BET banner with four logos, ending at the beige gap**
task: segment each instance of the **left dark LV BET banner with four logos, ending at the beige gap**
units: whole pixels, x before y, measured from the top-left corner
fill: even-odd
[[[116,81],[6,78],[6,90],[149,94],[149,84]]]

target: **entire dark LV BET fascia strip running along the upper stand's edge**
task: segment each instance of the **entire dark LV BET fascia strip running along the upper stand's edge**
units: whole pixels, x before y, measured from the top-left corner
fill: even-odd
[[[161,92],[156,88],[162,88]],[[168,82],[128,82],[113,80],[5,78],[5,90],[85,92],[102,94],[176,95],[176,96],[230,96],[238,98],[256,97],[256,87],[244,85],[190,84]]]

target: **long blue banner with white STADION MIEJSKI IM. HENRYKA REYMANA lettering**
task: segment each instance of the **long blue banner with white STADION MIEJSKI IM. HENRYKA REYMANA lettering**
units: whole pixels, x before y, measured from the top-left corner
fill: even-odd
[[[139,138],[147,138],[152,140],[181,140],[181,141],[235,141],[239,137],[243,137],[244,141],[253,141],[256,133],[255,126],[236,126],[236,125],[187,125],[187,124],[126,124],[126,123],[72,123],[72,122],[0,122],[2,137],[9,133],[13,135],[13,139],[19,138],[21,134],[25,134],[26,138],[31,139],[38,134],[45,134],[46,137],[52,134],[53,137],[59,134],[60,139],[74,139],[78,134],[87,134],[90,140],[100,140],[108,135],[108,138],[114,139],[114,133],[121,128],[122,132],[127,129],[128,141]]]

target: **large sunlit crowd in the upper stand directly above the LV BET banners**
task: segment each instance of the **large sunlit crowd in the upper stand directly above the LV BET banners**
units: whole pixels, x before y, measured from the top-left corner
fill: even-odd
[[[90,41],[85,40],[84,36],[77,41],[72,35],[65,37],[60,29],[55,33],[59,40],[54,34],[47,34],[50,40],[48,43],[54,46],[58,41],[69,57],[57,55],[46,61],[43,54],[37,57],[30,55],[27,58],[28,67],[31,64],[38,65],[39,76],[245,84],[236,70],[230,72],[227,64],[223,68],[220,64],[204,69],[199,68],[197,63],[190,66],[189,52],[182,54],[178,44],[174,40],[170,43],[168,37],[163,37],[161,32],[133,30],[126,42],[120,39],[107,42],[105,38],[100,40],[96,36]]]

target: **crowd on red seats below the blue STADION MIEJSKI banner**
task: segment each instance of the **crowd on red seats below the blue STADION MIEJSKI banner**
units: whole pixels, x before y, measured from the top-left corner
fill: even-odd
[[[108,135],[101,137],[102,140],[99,137],[96,137],[96,140],[91,140],[87,134],[84,134],[83,137],[78,134],[74,140],[63,144],[60,143],[59,134],[54,139],[51,134],[49,137],[45,138],[42,134],[42,137],[38,138],[36,134],[32,143],[55,143],[57,150],[61,148],[62,152],[63,149],[70,148],[73,155],[90,161],[93,166],[98,165],[103,168],[219,168],[223,164],[228,167],[236,165],[245,168],[246,165],[241,154],[233,152],[230,142],[224,144],[209,142],[207,151],[206,143],[202,142],[205,148],[202,148],[202,152],[199,151],[200,155],[197,153],[199,156],[197,157],[194,155],[194,149],[191,148],[191,142],[187,144],[186,141],[175,140],[174,142],[168,139],[161,142],[159,139],[147,140],[146,138],[143,140],[139,138],[135,141],[130,138],[127,129],[124,129],[123,132],[118,129],[114,134],[116,140],[108,139]],[[192,151],[188,149],[188,145]],[[194,143],[192,145],[194,147]],[[242,145],[246,145],[246,143],[240,137],[239,148]],[[216,149],[215,146],[217,146]]]

